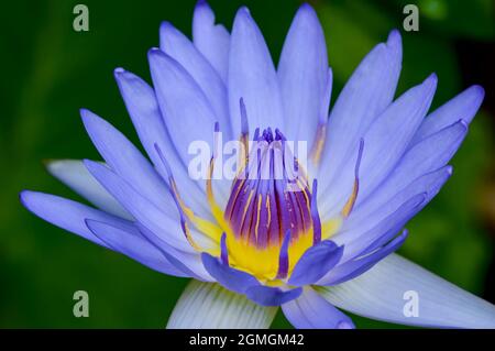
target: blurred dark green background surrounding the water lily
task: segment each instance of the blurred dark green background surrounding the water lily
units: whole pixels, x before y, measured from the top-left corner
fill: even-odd
[[[73,8],[89,8],[89,32],[73,30]],[[437,107],[472,84],[487,94],[453,161],[454,176],[409,224],[400,252],[495,301],[494,68],[492,0],[310,1],[323,24],[334,73],[332,100],[361,58],[393,28],[406,3],[420,10],[419,32],[403,32],[398,92],[439,76]],[[229,29],[248,4],[275,59],[299,1],[210,1]],[[0,21],[0,327],[162,328],[186,279],[155,273],[21,207],[29,188],[77,198],[43,168],[46,158],[98,158],[78,116],[89,108],[131,140],[135,132],[113,81],[122,66],[150,81],[146,52],[158,24],[190,34],[195,1],[9,1]],[[75,290],[89,293],[89,318],[73,316]],[[397,327],[363,318],[358,327]],[[279,314],[274,327],[288,328]]]

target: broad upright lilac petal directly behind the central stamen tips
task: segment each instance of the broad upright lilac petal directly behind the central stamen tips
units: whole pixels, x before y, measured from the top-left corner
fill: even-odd
[[[229,106],[233,135],[241,134],[239,101],[243,98],[251,131],[284,130],[278,80],[265,40],[246,8],[233,23],[229,56]]]

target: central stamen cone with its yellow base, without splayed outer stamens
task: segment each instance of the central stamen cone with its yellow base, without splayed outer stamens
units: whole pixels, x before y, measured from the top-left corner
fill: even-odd
[[[223,215],[231,229],[230,264],[264,281],[287,277],[302,253],[321,240],[312,196],[284,135],[257,130]]]

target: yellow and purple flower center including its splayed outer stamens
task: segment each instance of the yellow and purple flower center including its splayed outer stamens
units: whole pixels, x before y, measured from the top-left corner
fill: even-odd
[[[179,210],[182,228],[191,246],[199,252],[218,256],[223,264],[245,271],[266,285],[283,285],[302,254],[334,234],[342,220],[352,211],[359,190],[358,175],[364,142],[360,142],[354,187],[350,198],[340,215],[321,223],[317,208],[317,180],[309,187],[304,167],[278,130],[273,133],[268,128],[260,133],[260,129],[256,129],[252,145],[248,147],[248,119],[242,99],[240,107],[240,141],[249,152],[246,157],[240,157],[240,171],[232,183],[224,209],[215,199],[211,182],[217,152],[210,158],[206,190],[216,223],[196,216],[186,206],[179,196],[170,167],[156,144],[155,149],[165,166],[169,189]],[[218,123],[215,131],[219,131]],[[320,145],[321,133],[318,135],[317,145]],[[215,141],[215,150],[217,143]],[[320,149],[316,147],[317,151]],[[216,245],[199,245],[189,224],[210,238]]]

